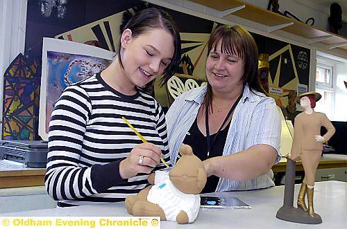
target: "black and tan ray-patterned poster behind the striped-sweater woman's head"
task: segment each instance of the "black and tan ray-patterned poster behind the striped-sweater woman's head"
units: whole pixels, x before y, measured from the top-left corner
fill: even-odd
[[[126,11],[132,14],[139,9],[156,7],[150,3],[141,3],[134,8],[128,8],[114,15],[104,17],[90,24],[74,28],[65,33],[55,36],[57,39],[65,39],[83,44],[96,44],[108,51],[117,51],[117,45],[120,38],[120,27],[124,24],[124,13]],[[180,28],[180,38],[182,40],[182,59],[177,73],[181,75],[191,75],[198,80],[205,80],[205,62],[207,59],[208,39],[212,29],[217,26],[214,21],[208,21],[182,12],[164,8],[176,20]],[[191,21],[194,24],[184,28],[180,21]],[[166,97],[165,97],[166,98]]]

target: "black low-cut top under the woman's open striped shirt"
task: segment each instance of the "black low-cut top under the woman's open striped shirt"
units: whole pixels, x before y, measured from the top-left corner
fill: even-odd
[[[226,136],[228,135],[229,126],[230,122],[228,123],[226,128],[221,130],[216,140],[214,140],[214,143],[210,150],[209,158],[212,158],[214,156],[222,156],[224,145],[226,144]],[[216,134],[212,134],[210,138],[213,139]],[[194,154],[198,158],[200,158],[201,161],[205,161],[208,158],[208,144],[206,140],[206,137],[203,136],[200,129],[198,129],[198,122],[196,118],[192,127],[190,127],[187,135],[185,136],[185,140],[183,140],[183,143],[186,145],[190,145],[193,149]],[[218,182],[218,176],[209,176],[205,188],[201,193],[215,192]]]

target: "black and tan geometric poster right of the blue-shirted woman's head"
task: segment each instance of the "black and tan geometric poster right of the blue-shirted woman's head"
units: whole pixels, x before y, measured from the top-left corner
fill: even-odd
[[[310,75],[310,49],[288,44],[278,39],[251,33],[260,55],[268,56],[269,74],[266,77],[266,94],[276,100],[279,107],[293,118],[298,85],[308,87]]]

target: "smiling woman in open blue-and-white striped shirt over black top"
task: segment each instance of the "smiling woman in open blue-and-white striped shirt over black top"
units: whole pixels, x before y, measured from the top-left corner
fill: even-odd
[[[257,89],[257,46],[240,26],[219,26],[208,41],[208,86],[176,98],[167,113],[171,163],[181,143],[203,160],[203,192],[270,187],[280,160],[280,116]]]

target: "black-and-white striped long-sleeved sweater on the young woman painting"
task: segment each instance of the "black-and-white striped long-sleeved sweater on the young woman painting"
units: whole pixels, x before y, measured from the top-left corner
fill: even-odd
[[[62,93],[49,122],[49,153],[44,183],[59,206],[124,201],[148,182],[148,174],[129,179],[119,163],[142,141],[121,119],[124,116],[169,163],[167,126],[158,102],[138,91],[124,95],[100,73]],[[155,170],[164,168],[159,164]]]

